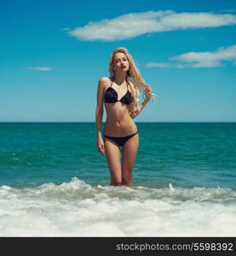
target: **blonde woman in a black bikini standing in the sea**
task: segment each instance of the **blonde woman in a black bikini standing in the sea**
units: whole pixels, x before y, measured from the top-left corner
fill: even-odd
[[[99,79],[97,88],[97,149],[106,155],[111,174],[110,185],[131,185],[132,170],[139,147],[139,134],[133,119],[151,99],[150,85],[145,84],[135,61],[125,48],[114,49],[109,63],[110,78]],[[145,93],[138,105],[139,91]],[[101,136],[103,103],[106,107],[104,138]],[[120,148],[122,147],[122,163]]]

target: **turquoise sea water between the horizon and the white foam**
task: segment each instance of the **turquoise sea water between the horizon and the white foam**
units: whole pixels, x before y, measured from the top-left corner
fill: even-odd
[[[236,123],[137,123],[133,184],[236,186]],[[0,184],[109,184],[95,123],[0,123]]]

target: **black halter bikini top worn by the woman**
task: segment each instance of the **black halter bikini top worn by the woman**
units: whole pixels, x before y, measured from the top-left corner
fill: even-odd
[[[106,89],[105,96],[104,96],[105,102],[106,103],[122,102],[126,105],[129,105],[131,102],[133,102],[133,97],[130,93],[130,90],[128,90],[128,83],[126,82],[126,84],[127,84],[127,92],[120,100],[118,100],[117,91],[112,88],[112,84],[111,84],[111,86]]]

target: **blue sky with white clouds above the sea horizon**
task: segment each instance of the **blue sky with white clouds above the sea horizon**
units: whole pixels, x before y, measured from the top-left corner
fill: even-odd
[[[158,95],[135,121],[236,121],[234,0],[9,0],[0,21],[2,122],[95,122],[117,47]]]

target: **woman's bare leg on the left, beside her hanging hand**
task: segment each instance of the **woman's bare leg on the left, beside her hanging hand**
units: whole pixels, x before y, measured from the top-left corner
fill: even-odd
[[[120,164],[120,149],[111,139],[104,137],[106,160],[111,175],[111,186],[118,186],[122,183],[122,172]]]

